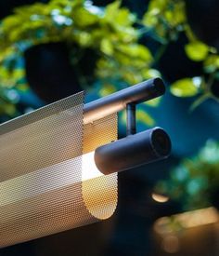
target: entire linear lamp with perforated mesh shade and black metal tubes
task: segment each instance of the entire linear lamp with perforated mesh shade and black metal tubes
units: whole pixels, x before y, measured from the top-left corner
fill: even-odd
[[[135,104],[164,93],[150,79],[84,104],[84,93],[0,126],[0,247],[109,218],[117,172],[167,157],[161,128],[135,134]],[[126,108],[127,137],[117,140]]]

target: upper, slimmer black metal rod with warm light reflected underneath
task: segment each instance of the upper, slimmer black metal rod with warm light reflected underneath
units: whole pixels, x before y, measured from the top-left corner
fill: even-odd
[[[128,103],[140,103],[161,96],[165,86],[161,78],[153,78],[130,88],[122,89],[104,98],[84,105],[84,124],[121,111]]]

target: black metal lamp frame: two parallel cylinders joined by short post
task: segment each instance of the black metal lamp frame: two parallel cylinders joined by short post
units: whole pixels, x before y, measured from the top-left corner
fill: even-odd
[[[170,155],[171,140],[162,128],[136,133],[136,104],[165,92],[161,78],[154,78],[84,106],[84,124],[126,109],[126,137],[100,146],[95,151],[97,168],[104,174],[135,168]]]

